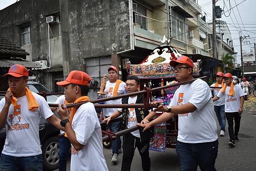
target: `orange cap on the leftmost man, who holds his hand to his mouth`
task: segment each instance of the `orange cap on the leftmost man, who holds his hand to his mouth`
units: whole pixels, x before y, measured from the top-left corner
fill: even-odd
[[[10,67],[7,74],[3,75],[3,77],[7,77],[8,75],[12,75],[14,77],[29,77],[29,71],[25,67],[19,64],[14,64]]]

